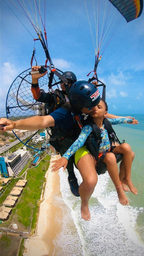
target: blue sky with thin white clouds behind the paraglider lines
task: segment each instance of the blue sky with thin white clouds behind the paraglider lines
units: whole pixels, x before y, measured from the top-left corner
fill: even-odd
[[[107,0],[100,1],[101,26],[105,1]],[[13,0],[13,2],[18,6],[18,1]],[[20,2],[23,3],[22,0]],[[32,0],[31,2],[33,5]],[[98,8],[97,6],[93,8],[93,2],[95,0],[46,0],[45,17],[49,54],[56,68],[63,72],[68,70],[74,72],[78,80],[88,80],[87,74],[93,70],[95,65],[93,40],[96,42],[98,38],[95,27],[95,12]],[[24,3],[29,13],[33,15],[29,1],[24,1]],[[43,9],[44,1],[41,1],[41,17],[44,21]],[[115,10],[112,6],[110,18],[108,18],[110,35],[113,35],[115,31],[113,21],[111,21]],[[118,11],[116,12],[117,16]],[[116,28],[110,43],[106,49],[103,46],[105,51],[98,65],[97,74],[99,80],[106,85],[109,113],[144,114],[144,11],[140,18],[130,23],[126,23],[121,17],[120,14],[120,26]],[[101,30],[99,38],[100,35]],[[0,117],[6,116],[6,96],[11,83],[19,73],[31,67],[33,47],[36,48],[38,65],[44,65],[46,61],[41,43],[36,41],[34,44],[33,38],[38,38],[36,31],[23,14],[8,0],[1,0]],[[93,72],[89,78],[92,75]]]

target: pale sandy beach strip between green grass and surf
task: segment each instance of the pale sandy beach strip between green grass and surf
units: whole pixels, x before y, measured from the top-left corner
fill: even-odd
[[[56,207],[51,203],[53,195],[59,191],[59,174],[51,172],[52,161],[59,156],[51,156],[49,169],[46,173],[46,186],[44,189],[43,202],[39,208],[38,225],[36,235],[26,239],[24,244],[24,256],[51,256],[53,255],[53,239],[60,232],[59,227],[54,224]]]

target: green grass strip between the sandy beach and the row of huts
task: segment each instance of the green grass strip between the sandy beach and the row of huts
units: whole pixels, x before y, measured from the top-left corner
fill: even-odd
[[[16,206],[13,208],[12,215],[10,216],[8,221],[3,222],[2,227],[9,227],[9,225],[14,222],[18,224],[18,227],[20,227],[21,231],[29,231],[30,226],[33,231],[35,230],[39,210],[39,199],[45,180],[44,176],[49,166],[49,160],[50,156],[46,154],[46,157],[41,160],[38,166],[28,169],[26,177],[28,183],[23,189],[23,192],[19,197],[18,203],[16,203]],[[18,179],[14,179],[13,182],[11,182],[13,183],[13,186],[17,181]],[[8,189],[9,186],[5,191],[7,195]],[[11,189],[12,188],[10,188],[9,191],[11,191]],[[3,197],[4,200],[6,196]],[[2,200],[2,196],[0,200],[1,203],[4,201]]]

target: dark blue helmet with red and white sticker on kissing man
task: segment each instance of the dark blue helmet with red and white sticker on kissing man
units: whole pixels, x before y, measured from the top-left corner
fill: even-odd
[[[75,109],[81,110],[83,107],[90,109],[99,104],[100,92],[93,83],[84,80],[77,81],[71,85],[69,101]]]

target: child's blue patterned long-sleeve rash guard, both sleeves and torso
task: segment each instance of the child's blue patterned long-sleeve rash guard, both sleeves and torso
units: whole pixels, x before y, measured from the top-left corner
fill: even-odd
[[[125,123],[131,123],[133,121],[133,119],[126,118],[126,117],[118,117],[115,119],[108,119],[108,120],[111,124],[125,124]],[[110,149],[110,141],[108,138],[108,132],[105,129],[105,125],[102,125],[102,127],[100,129],[101,129],[102,141],[101,141],[100,148],[99,148],[98,152],[102,153],[102,152]],[[90,125],[85,125],[85,127],[83,127],[83,129],[81,130],[81,134],[78,137],[78,139],[76,139],[76,141],[71,145],[71,147],[69,147],[68,151],[66,151],[64,153],[63,157],[66,159],[69,159],[73,154],[75,154],[75,152],[78,149],[83,147],[83,145],[86,142],[87,137],[91,134],[92,131],[93,131],[93,129],[91,128]],[[93,143],[95,143],[95,142],[93,142]]]

